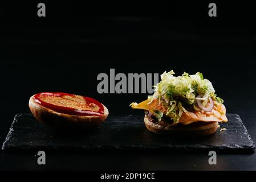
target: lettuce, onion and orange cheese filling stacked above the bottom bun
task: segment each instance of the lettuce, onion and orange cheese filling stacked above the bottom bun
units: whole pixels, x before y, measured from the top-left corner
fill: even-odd
[[[144,109],[149,121],[163,126],[194,122],[227,122],[223,100],[217,97],[212,83],[202,73],[173,76],[164,72],[148,100],[132,103],[133,109]]]

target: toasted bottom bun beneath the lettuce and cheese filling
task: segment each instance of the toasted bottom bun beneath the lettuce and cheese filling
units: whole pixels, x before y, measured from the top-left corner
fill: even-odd
[[[157,123],[149,121],[145,115],[144,123],[149,131],[156,134],[171,134],[171,135],[190,135],[190,136],[205,136],[216,132],[218,122],[197,122],[190,125],[176,125],[165,127]]]

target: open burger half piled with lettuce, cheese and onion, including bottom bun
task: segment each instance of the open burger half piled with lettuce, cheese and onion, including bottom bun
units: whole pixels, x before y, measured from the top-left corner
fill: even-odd
[[[156,134],[210,135],[217,131],[219,122],[227,122],[223,100],[217,97],[212,82],[202,73],[174,76],[164,72],[153,96],[133,109],[145,110],[144,123]]]

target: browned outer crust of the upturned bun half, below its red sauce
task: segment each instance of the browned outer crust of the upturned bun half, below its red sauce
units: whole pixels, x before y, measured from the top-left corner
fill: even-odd
[[[30,97],[29,108],[38,121],[55,129],[92,129],[100,125],[108,117],[108,109],[104,107],[104,114],[100,116],[81,116],[58,113],[35,102],[34,96]]]

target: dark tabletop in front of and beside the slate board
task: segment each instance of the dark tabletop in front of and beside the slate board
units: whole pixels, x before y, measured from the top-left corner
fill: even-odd
[[[256,140],[255,117],[242,116],[252,139]],[[9,125],[1,128],[1,140]],[[5,128],[5,132],[3,132]],[[0,170],[253,170],[256,154],[218,154],[217,165],[209,165],[207,152],[170,151],[46,151],[46,165],[37,164],[36,151],[0,152]]]

